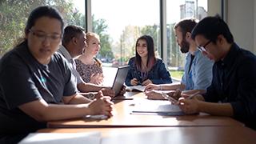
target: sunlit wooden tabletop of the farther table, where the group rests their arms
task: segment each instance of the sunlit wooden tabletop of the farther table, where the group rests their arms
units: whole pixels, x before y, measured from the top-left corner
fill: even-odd
[[[134,100],[116,100],[114,116],[106,120],[86,118],[48,122],[49,128],[92,128],[92,127],[157,127],[157,126],[243,126],[241,122],[229,117],[196,114],[186,116],[160,116],[130,114],[135,102],[145,99],[143,93],[128,92],[127,97]]]

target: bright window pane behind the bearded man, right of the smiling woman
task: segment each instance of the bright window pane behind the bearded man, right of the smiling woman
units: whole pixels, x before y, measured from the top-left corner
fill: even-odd
[[[171,70],[183,70],[186,54],[182,54],[174,36],[174,24],[182,18],[207,16],[207,0],[167,0],[167,64]],[[173,74],[174,75],[174,74]],[[178,72],[178,78],[182,75]]]

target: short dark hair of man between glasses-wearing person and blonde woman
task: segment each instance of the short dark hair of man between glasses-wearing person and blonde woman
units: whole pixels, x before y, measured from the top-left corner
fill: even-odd
[[[66,26],[62,38],[62,45],[66,45],[72,38],[77,37],[78,34],[82,34],[84,29],[81,26]]]

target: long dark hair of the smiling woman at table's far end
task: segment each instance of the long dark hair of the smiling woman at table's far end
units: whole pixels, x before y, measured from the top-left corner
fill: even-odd
[[[154,40],[150,35],[142,35],[140,38],[137,39],[136,45],[135,45],[135,65],[137,66],[138,70],[142,70],[141,63],[142,58],[139,56],[137,52],[137,45],[139,40],[145,40],[147,45],[147,62],[146,67],[148,67],[150,70],[154,66],[154,62],[156,62],[155,54],[154,54]]]

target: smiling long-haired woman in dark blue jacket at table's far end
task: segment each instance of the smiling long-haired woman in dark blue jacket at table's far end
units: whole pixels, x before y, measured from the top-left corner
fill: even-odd
[[[126,77],[126,86],[150,83],[171,83],[170,74],[165,64],[154,54],[154,41],[149,35],[142,35],[136,42],[136,55],[130,58],[130,70]]]

